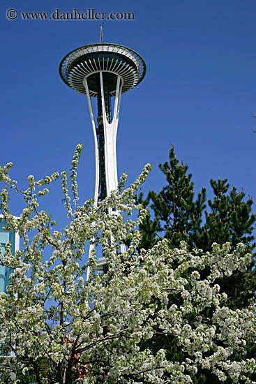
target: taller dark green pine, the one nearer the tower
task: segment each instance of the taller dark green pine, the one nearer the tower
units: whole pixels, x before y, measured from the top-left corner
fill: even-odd
[[[149,219],[147,227],[150,232],[146,232],[146,226],[143,231],[142,247],[146,248],[149,237],[167,237],[172,246],[179,246],[182,240],[191,242],[199,236],[202,223],[202,213],[206,207],[206,190],[198,194],[194,201],[194,183],[191,181],[192,174],[186,175],[188,165],[179,163],[172,145],[169,154],[169,163],[165,162],[159,165],[160,170],[165,174],[167,185],[159,192],[149,191],[145,200],[142,193],[139,201],[144,206],[150,206],[153,209],[154,219]],[[149,202],[151,202],[149,204]],[[143,223],[142,226],[145,224]],[[141,228],[140,228],[141,229]],[[153,232],[154,230],[154,232]],[[158,235],[159,232],[159,235]],[[153,236],[154,235],[154,236]]]

